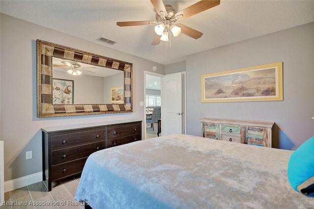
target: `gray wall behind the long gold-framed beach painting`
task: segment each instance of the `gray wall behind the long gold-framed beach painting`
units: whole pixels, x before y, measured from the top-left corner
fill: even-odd
[[[201,102],[202,74],[275,62],[283,62],[283,101]],[[187,134],[200,136],[201,117],[274,121],[273,146],[295,149],[314,136],[313,79],[314,23],[189,55]]]

